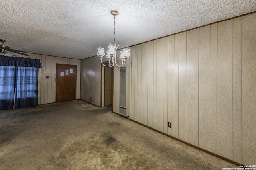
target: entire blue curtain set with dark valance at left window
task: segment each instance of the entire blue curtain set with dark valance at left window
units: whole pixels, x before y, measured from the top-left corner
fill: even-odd
[[[0,56],[0,110],[38,105],[40,59]]]

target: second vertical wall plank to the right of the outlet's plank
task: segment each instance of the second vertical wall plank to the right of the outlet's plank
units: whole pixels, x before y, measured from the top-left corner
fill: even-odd
[[[186,35],[179,35],[179,139],[186,141]]]

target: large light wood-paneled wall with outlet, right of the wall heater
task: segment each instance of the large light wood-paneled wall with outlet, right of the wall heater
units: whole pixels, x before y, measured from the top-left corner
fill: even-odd
[[[256,13],[131,49],[131,119],[255,164]]]

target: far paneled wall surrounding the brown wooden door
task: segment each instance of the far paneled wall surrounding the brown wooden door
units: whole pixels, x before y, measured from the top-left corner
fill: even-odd
[[[17,56],[16,53],[12,53],[12,55]],[[76,65],[76,99],[80,99],[81,60],[33,53],[28,53],[28,55],[22,57],[40,59],[42,65],[38,72],[38,104],[56,102],[56,64]],[[46,79],[46,76],[50,76],[50,78]]]

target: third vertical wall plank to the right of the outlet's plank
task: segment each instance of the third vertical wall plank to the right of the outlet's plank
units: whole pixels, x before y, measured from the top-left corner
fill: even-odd
[[[186,141],[198,146],[199,29],[187,31],[186,49]]]

